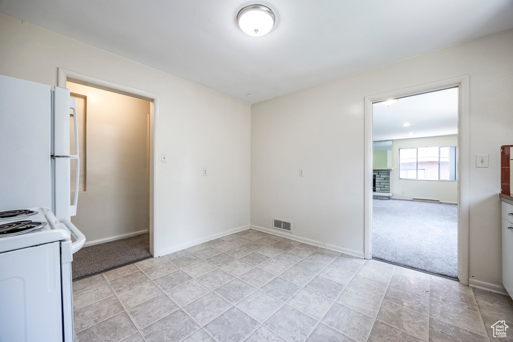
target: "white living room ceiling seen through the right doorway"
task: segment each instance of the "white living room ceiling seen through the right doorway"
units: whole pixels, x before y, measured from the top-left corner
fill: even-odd
[[[390,107],[374,103],[372,126],[375,142],[458,134],[458,88],[402,97]]]

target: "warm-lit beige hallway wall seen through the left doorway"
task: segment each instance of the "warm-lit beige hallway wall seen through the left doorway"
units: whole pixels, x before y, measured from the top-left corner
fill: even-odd
[[[80,227],[86,243],[147,231],[150,102],[72,82],[66,88],[85,96],[82,106],[77,102],[77,114],[87,117],[78,145],[83,149],[81,169],[87,169],[85,191],[79,193],[80,206],[71,222]],[[71,183],[73,189],[74,169]]]

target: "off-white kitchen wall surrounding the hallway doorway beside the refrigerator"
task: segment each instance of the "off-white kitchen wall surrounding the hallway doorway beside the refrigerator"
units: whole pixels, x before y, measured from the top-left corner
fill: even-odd
[[[160,96],[161,253],[249,225],[248,104],[0,14],[0,74],[56,85],[59,67]]]

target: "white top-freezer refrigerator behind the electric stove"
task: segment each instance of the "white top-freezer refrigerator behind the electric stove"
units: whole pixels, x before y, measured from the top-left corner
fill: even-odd
[[[59,218],[76,215],[78,191],[71,193],[70,170],[74,159],[78,190],[77,133],[75,100],[68,89],[52,91],[48,85],[0,75],[0,210],[47,207]]]

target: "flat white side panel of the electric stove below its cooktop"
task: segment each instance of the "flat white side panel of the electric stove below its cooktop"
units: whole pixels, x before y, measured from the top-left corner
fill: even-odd
[[[59,242],[0,253],[0,341],[62,341]]]

